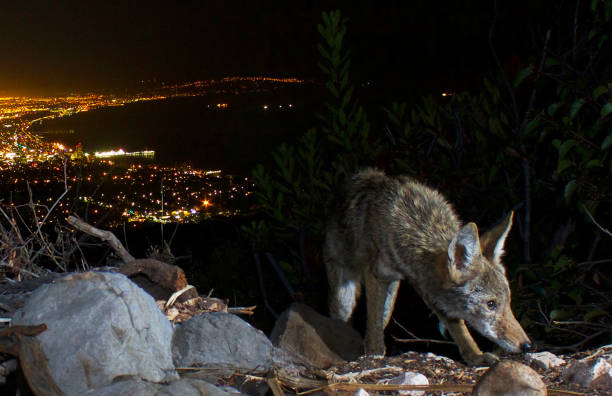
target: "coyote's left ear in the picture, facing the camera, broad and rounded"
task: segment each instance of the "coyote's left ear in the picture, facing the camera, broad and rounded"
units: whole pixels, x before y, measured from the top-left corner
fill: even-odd
[[[474,278],[478,272],[478,256],[482,254],[476,224],[466,224],[448,245],[448,272],[455,284]]]

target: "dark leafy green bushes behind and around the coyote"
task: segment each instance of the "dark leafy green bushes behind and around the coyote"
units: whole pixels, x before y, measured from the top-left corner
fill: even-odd
[[[553,351],[612,341],[611,17],[610,1],[559,6],[514,71],[495,52],[494,17],[498,67],[479,87],[390,103],[371,124],[350,75],[347,21],[323,14],[319,125],[253,172],[264,216],[243,229],[260,276],[264,267],[294,299],[324,307],[327,204],[347,175],[377,166],[440,189],[483,228],[514,210],[505,263],[527,332]],[[281,310],[284,298],[268,305]],[[409,323],[401,308],[395,317]]]

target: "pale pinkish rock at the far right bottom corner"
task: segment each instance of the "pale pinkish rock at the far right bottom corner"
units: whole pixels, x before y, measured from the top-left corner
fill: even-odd
[[[563,377],[585,388],[609,391],[612,389],[612,345],[601,347],[592,356],[572,362],[563,371]]]

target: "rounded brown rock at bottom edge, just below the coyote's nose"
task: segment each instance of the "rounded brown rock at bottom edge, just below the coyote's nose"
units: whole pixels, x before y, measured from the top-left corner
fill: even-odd
[[[473,396],[545,396],[546,385],[531,367],[504,360],[493,365],[478,381]]]

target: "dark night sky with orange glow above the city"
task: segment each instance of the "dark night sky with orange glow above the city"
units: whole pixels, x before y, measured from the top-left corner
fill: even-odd
[[[230,75],[316,79],[316,25],[321,11],[336,8],[349,18],[357,80],[452,88],[493,67],[493,3],[3,1],[0,94],[110,92],[141,80]],[[506,61],[534,45],[550,7],[498,3],[494,42]]]

